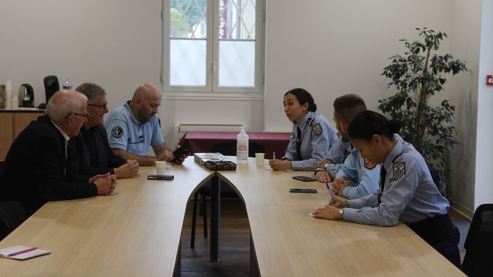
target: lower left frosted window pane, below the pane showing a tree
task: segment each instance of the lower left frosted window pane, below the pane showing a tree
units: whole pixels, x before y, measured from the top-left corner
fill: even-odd
[[[170,86],[206,85],[206,40],[170,39]]]

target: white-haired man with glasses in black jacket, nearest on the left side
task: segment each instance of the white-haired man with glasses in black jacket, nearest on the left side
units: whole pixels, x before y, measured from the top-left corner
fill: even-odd
[[[52,200],[109,195],[116,177],[101,174],[87,179],[70,174],[67,145],[87,120],[87,98],[76,91],[58,91],[46,115],[38,117],[13,141],[0,176],[0,200],[23,204],[29,217]]]

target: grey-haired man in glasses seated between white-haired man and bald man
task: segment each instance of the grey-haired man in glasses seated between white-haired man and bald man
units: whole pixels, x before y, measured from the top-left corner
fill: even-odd
[[[70,139],[68,148],[73,153],[73,167],[70,169],[77,174],[93,176],[110,172],[117,178],[130,178],[139,173],[137,160],[125,160],[113,154],[109,144],[104,115],[108,112],[106,91],[93,83],[77,86],[76,91],[87,97],[89,118],[80,128],[80,133]]]

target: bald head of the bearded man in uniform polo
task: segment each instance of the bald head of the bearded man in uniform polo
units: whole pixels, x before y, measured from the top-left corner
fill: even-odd
[[[139,122],[149,122],[158,113],[161,91],[153,84],[141,84],[128,105]]]

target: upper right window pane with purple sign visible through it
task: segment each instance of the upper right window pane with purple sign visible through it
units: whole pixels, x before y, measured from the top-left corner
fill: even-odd
[[[219,38],[255,39],[255,0],[219,0]]]

